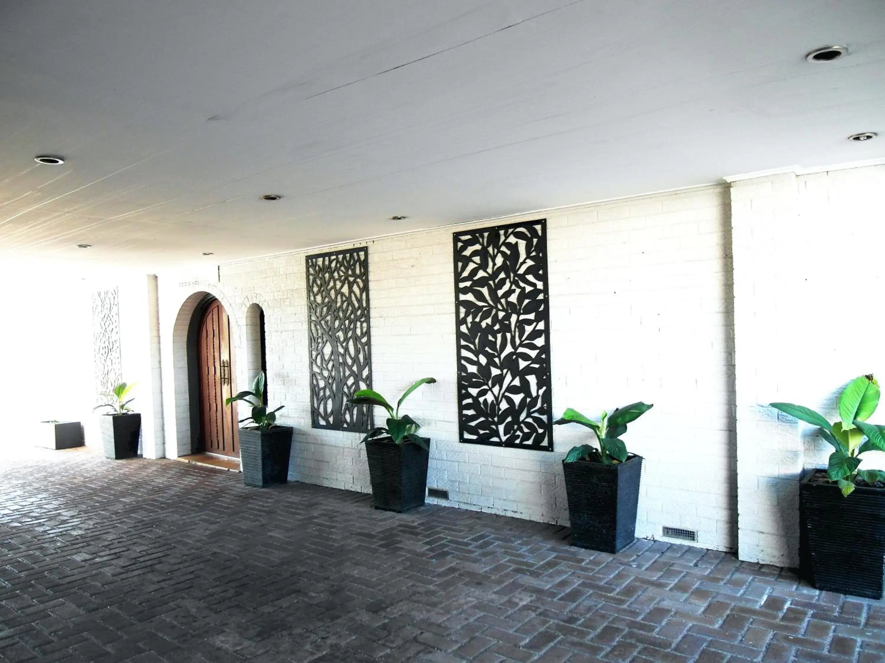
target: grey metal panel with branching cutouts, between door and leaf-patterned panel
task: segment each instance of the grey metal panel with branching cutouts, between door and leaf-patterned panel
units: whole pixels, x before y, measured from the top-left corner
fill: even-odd
[[[368,432],[372,408],[350,405],[372,387],[366,247],[307,256],[313,428]]]

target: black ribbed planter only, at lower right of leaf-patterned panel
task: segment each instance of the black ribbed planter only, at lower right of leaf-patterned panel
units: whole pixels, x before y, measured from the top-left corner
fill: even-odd
[[[617,465],[562,463],[566,476],[572,545],[620,552],[636,538],[636,507],[643,457],[630,455]]]

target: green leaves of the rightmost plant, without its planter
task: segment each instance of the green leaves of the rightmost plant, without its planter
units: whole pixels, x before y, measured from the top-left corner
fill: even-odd
[[[820,429],[820,435],[835,448],[829,457],[827,476],[848,497],[854,492],[858,478],[867,484],[885,482],[885,472],[881,469],[858,469],[861,453],[885,451],[885,426],[866,423],[879,405],[879,396],[875,377],[862,375],[851,380],[839,395],[841,421],[836,423],[829,423],[823,415],[801,405],[772,403],[771,407]]]

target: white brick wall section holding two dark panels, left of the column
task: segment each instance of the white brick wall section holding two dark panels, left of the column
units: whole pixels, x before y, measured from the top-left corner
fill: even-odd
[[[626,439],[646,459],[637,534],[684,527],[698,530],[698,545],[718,549],[735,545],[728,204],[727,187],[705,187],[508,219],[548,219],[554,413],[654,403]],[[586,439],[583,431],[557,427],[557,453],[458,444],[455,229],[332,247],[369,247],[374,387],[396,398],[415,378],[439,380],[415,392],[407,409],[434,440],[428,485],[448,489],[449,504],[567,523],[559,461]],[[240,329],[248,303],[260,298],[269,399],[296,428],[293,477],[368,492],[361,436],[310,428],[304,255],[221,265],[218,284],[204,277],[181,287],[195,279],[161,275],[164,370],[189,295],[223,293]],[[237,347],[241,382],[247,356]],[[181,380],[181,365],[174,370]],[[178,408],[181,419],[186,401],[164,387],[166,411]]]

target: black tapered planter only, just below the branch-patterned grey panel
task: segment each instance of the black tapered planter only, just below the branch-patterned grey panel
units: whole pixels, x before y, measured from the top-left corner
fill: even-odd
[[[430,438],[421,438],[429,447]],[[373,507],[402,514],[424,505],[427,496],[427,449],[408,443],[397,445],[393,438],[366,442]]]

